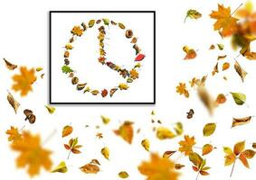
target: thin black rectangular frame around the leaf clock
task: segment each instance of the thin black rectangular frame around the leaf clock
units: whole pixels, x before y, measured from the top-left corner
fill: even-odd
[[[52,102],[52,14],[54,13],[151,13],[154,15],[154,37],[153,37],[153,46],[154,46],[154,56],[153,56],[153,65],[154,65],[154,100],[153,102],[120,102],[120,103],[110,103],[110,102]],[[50,11],[49,12],[49,103],[56,105],[56,104],[156,104],[156,11]]]

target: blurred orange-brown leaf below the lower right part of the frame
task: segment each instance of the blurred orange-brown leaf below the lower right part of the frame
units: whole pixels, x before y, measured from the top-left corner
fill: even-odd
[[[120,127],[119,130],[114,130],[114,132],[119,135],[122,139],[126,140],[129,144],[132,143],[133,139],[133,122],[125,121]]]

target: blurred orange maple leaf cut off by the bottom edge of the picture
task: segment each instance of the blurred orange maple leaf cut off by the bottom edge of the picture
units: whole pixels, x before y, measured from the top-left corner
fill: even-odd
[[[147,180],[177,180],[179,176],[175,163],[157,154],[151,154],[150,161],[142,162],[137,168],[142,175],[147,175]]]

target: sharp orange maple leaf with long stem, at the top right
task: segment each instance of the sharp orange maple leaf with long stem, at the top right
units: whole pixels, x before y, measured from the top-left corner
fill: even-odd
[[[237,18],[232,17],[231,8],[225,8],[223,4],[218,4],[218,11],[213,11],[210,17],[216,19],[213,24],[214,30],[220,30],[223,37],[232,35],[237,31]]]

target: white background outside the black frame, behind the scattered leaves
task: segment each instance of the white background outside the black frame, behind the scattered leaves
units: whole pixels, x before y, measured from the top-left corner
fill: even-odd
[[[227,60],[233,64],[233,58],[238,52],[230,49],[230,40],[222,40],[216,31],[213,31],[213,20],[209,19],[208,14],[211,10],[217,9],[217,3],[231,5],[232,10],[241,4],[241,1],[5,1],[1,3],[1,44],[0,57],[10,59],[12,62],[28,67],[45,67],[48,69],[49,41],[48,41],[48,11],[49,10],[156,10],[156,105],[86,105],[86,106],[57,106],[54,114],[50,115],[43,107],[48,103],[48,74],[45,79],[38,80],[33,85],[33,94],[21,98],[19,94],[14,97],[22,104],[15,115],[12,108],[6,101],[6,90],[12,85],[11,76],[13,72],[5,69],[4,64],[1,68],[1,120],[0,120],[0,167],[1,177],[5,179],[29,179],[24,169],[16,170],[14,159],[16,153],[8,148],[5,130],[10,125],[21,128],[24,125],[24,108],[33,109],[37,116],[37,121],[33,125],[26,125],[26,130],[40,133],[42,139],[47,139],[52,130],[57,133],[51,140],[44,144],[45,148],[53,150],[52,159],[54,165],[67,157],[67,151],[62,147],[68,139],[61,139],[62,127],[71,123],[74,127],[72,137],[79,137],[83,145],[82,155],[71,155],[67,164],[70,166],[69,172],[61,174],[48,174],[43,171],[34,179],[119,179],[117,174],[120,170],[128,171],[131,180],[145,179],[137,172],[137,165],[142,159],[147,159],[148,153],[140,147],[141,139],[151,140],[151,151],[162,154],[166,150],[177,149],[178,139],[160,141],[155,138],[151,131],[150,112],[156,110],[157,118],[170,127],[175,121],[183,121],[185,134],[194,135],[197,147],[202,147],[204,143],[213,143],[217,147],[212,154],[207,156],[207,164],[212,167],[209,171],[210,176],[200,177],[205,180],[230,179],[231,166],[223,166],[223,146],[232,147],[237,141],[246,139],[247,148],[251,148],[251,143],[256,141],[255,118],[250,124],[231,129],[232,117],[242,117],[245,115],[255,115],[255,62],[238,58],[238,61],[249,73],[245,82],[242,84],[239,76],[233,68],[220,75],[210,77],[207,80],[207,87],[211,94],[227,94],[228,92],[242,92],[247,94],[247,105],[237,106],[232,102],[231,95],[228,102],[221,105],[210,117],[205,111],[204,106],[198,101],[194,91],[191,91],[191,98],[185,99],[175,93],[175,86],[180,81],[187,82],[193,76],[203,76],[211,74],[216,63],[216,57],[220,54],[228,54]],[[256,2],[253,1],[255,4]],[[198,21],[187,20],[183,23],[185,12],[194,8],[203,14]],[[213,43],[224,43],[226,51],[208,51]],[[198,50],[198,57],[191,61],[184,61],[185,54],[182,47],[188,45]],[[15,71],[17,73],[17,71]],[[228,81],[223,80],[223,75],[228,76]],[[249,106],[249,107],[248,107]],[[185,112],[194,108],[194,119],[186,120]],[[112,121],[108,126],[101,125],[100,115],[109,116]],[[117,129],[122,121],[135,121],[135,129],[142,128],[139,135],[135,136],[132,146],[116,137],[112,130]],[[213,137],[204,138],[202,129],[207,122],[215,121],[217,130]],[[86,129],[84,126],[90,125]],[[104,138],[95,138],[95,125],[100,125],[100,131]],[[110,160],[105,160],[100,155],[100,149],[104,146],[110,148]],[[199,149],[200,152],[200,149]],[[80,172],[77,166],[82,166],[90,161],[91,158],[98,158],[102,164],[98,175],[85,175]],[[175,157],[174,157],[175,158]],[[186,167],[181,171],[182,180],[195,179],[195,173],[191,169],[191,164],[182,158],[179,163],[184,163]],[[255,178],[256,160],[250,160],[251,169],[246,169],[240,162],[236,164],[233,180]]]

